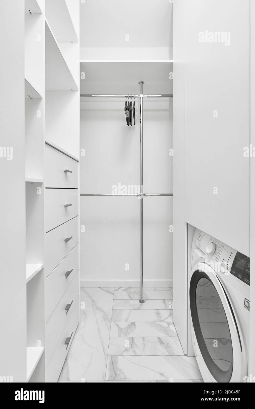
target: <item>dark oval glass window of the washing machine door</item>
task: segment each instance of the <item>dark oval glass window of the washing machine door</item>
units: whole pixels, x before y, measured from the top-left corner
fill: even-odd
[[[230,370],[233,351],[227,317],[216,288],[205,277],[196,286],[196,310],[203,337],[201,341],[212,361],[219,370]]]

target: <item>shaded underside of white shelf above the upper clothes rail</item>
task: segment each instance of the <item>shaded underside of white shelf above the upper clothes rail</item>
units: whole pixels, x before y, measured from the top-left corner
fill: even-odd
[[[172,62],[80,62],[81,94],[173,93]],[[82,79],[84,77],[84,79]]]

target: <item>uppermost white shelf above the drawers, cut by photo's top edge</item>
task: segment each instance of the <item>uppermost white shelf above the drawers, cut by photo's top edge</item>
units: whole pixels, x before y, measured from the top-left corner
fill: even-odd
[[[58,43],[78,42],[65,0],[46,0],[45,15]]]

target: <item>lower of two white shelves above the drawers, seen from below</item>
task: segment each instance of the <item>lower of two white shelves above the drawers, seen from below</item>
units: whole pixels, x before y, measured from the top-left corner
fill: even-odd
[[[45,20],[45,44],[46,90],[77,91],[77,83],[61,53],[61,49],[47,20]]]

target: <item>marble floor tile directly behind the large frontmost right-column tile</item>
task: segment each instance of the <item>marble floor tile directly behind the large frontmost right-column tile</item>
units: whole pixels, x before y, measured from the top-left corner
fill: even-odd
[[[108,356],[184,355],[178,337],[111,337]]]

